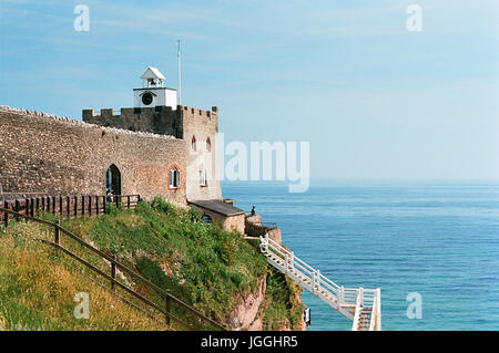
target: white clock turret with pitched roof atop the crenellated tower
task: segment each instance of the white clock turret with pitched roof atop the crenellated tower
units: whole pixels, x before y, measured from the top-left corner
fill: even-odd
[[[176,110],[176,90],[165,87],[166,79],[160,70],[149,66],[141,79],[142,89],[133,89],[134,107],[170,106]]]

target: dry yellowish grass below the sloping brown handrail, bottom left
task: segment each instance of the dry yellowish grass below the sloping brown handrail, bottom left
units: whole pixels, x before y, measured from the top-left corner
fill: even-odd
[[[37,225],[0,231],[0,330],[164,330],[61,262]],[[75,319],[74,294],[90,297],[90,318]]]

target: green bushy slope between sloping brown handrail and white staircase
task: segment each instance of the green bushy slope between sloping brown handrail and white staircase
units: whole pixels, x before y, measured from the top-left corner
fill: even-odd
[[[254,245],[216,225],[204,225],[193,209],[155,199],[130,211],[110,208],[108,215],[99,218],[63,219],[62,226],[101,250],[116,255],[120,261],[218,322],[226,322],[236,307],[234,298],[255,291],[267,276],[266,298],[261,308],[264,329],[297,328],[304,309],[296,300],[298,287],[268,269]],[[71,250],[78,252],[75,248]],[[88,260],[98,266],[95,259]],[[109,271],[102,263],[100,267]],[[45,276],[57,281],[58,276]]]

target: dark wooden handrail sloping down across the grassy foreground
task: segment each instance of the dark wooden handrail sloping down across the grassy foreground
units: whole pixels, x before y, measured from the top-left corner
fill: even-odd
[[[204,314],[202,314],[201,312],[198,312],[197,310],[195,310],[191,305],[184,303],[182,300],[180,300],[180,299],[175,298],[174,295],[172,295],[169,291],[165,291],[165,290],[161,289],[160,287],[157,287],[156,284],[150,282],[149,280],[146,280],[145,278],[143,278],[142,276],[140,276],[139,273],[133,271],[131,268],[129,268],[125,264],[116,261],[116,259],[114,257],[111,257],[111,256],[102,252],[101,250],[94,248],[90,243],[83,241],[78,236],[75,236],[72,232],[70,232],[69,230],[62,228],[60,225],[51,222],[51,221],[48,221],[48,220],[44,220],[44,219],[34,218],[34,217],[29,216],[29,215],[23,215],[23,214],[13,211],[11,209],[7,209],[7,208],[1,208],[0,207],[0,215],[1,214],[3,214],[3,219],[7,220],[7,221],[4,221],[6,226],[9,225],[8,224],[9,215],[11,215],[17,220],[26,219],[26,220],[30,220],[30,221],[38,222],[38,224],[41,224],[41,225],[45,225],[45,226],[49,226],[49,227],[53,228],[53,235],[54,235],[54,238],[53,238],[54,240],[53,241],[50,241],[50,240],[47,240],[47,239],[38,239],[38,240],[40,240],[41,242],[43,242],[45,245],[49,245],[49,246],[51,246],[51,247],[53,247],[53,248],[55,248],[55,249],[58,249],[60,251],[62,251],[63,253],[70,256],[72,259],[77,260],[78,262],[80,262],[84,267],[86,267],[90,270],[92,270],[94,273],[96,273],[101,278],[110,281],[111,289],[114,289],[115,287],[118,287],[118,288],[124,290],[128,294],[131,294],[134,298],[136,298],[138,300],[142,301],[149,308],[151,308],[151,309],[157,311],[160,314],[164,315],[165,323],[166,323],[166,325],[169,328],[172,328],[173,326],[173,322],[175,322],[176,324],[180,324],[182,328],[184,328],[186,330],[195,330],[196,329],[192,324],[184,322],[182,319],[180,319],[179,316],[176,316],[176,315],[174,315],[172,313],[172,304],[176,304],[176,305],[179,305],[179,308],[183,309],[185,312],[192,314],[197,322],[200,322],[200,323],[203,322],[204,324],[201,325],[201,329],[205,329],[205,330],[213,330],[213,329],[215,329],[215,330],[226,331],[226,329],[223,325],[221,325],[220,323],[217,323],[214,320],[205,316]],[[110,274],[105,273],[104,271],[102,271],[98,267],[95,267],[92,263],[90,263],[89,261],[84,260],[82,257],[80,257],[80,256],[75,255],[74,252],[70,251],[68,248],[64,248],[61,245],[61,235],[67,236],[69,239],[75,241],[79,246],[85,248],[86,250],[90,250],[91,253],[98,256],[98,258],[100,258],[101,260],[108,261],[111,264],[111,273]],[[123,284],[120,281],[118,281],[116,280],[116,269],[119,269],[123,273],[129,274],[135,281],[141,282],[141,284],[144,285],[147,290],[154,291],[156,294],[159,294],[159,297],[164,300],[164,302],[163,302],[164,307],[160,307],[157,303],[155,303],[153,301],[153,299],[145,298],[144,295],[138,293],[135,290],[133,290],[129,285]]]

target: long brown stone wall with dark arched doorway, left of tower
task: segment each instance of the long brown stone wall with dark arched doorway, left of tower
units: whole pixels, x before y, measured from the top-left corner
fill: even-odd
[[[105,194],[114,164],[122,194],[161,195],[185,205],[185,142],[0,107],[0,184],[4,193]],[[176,165],[181,187],[169,189]]]

